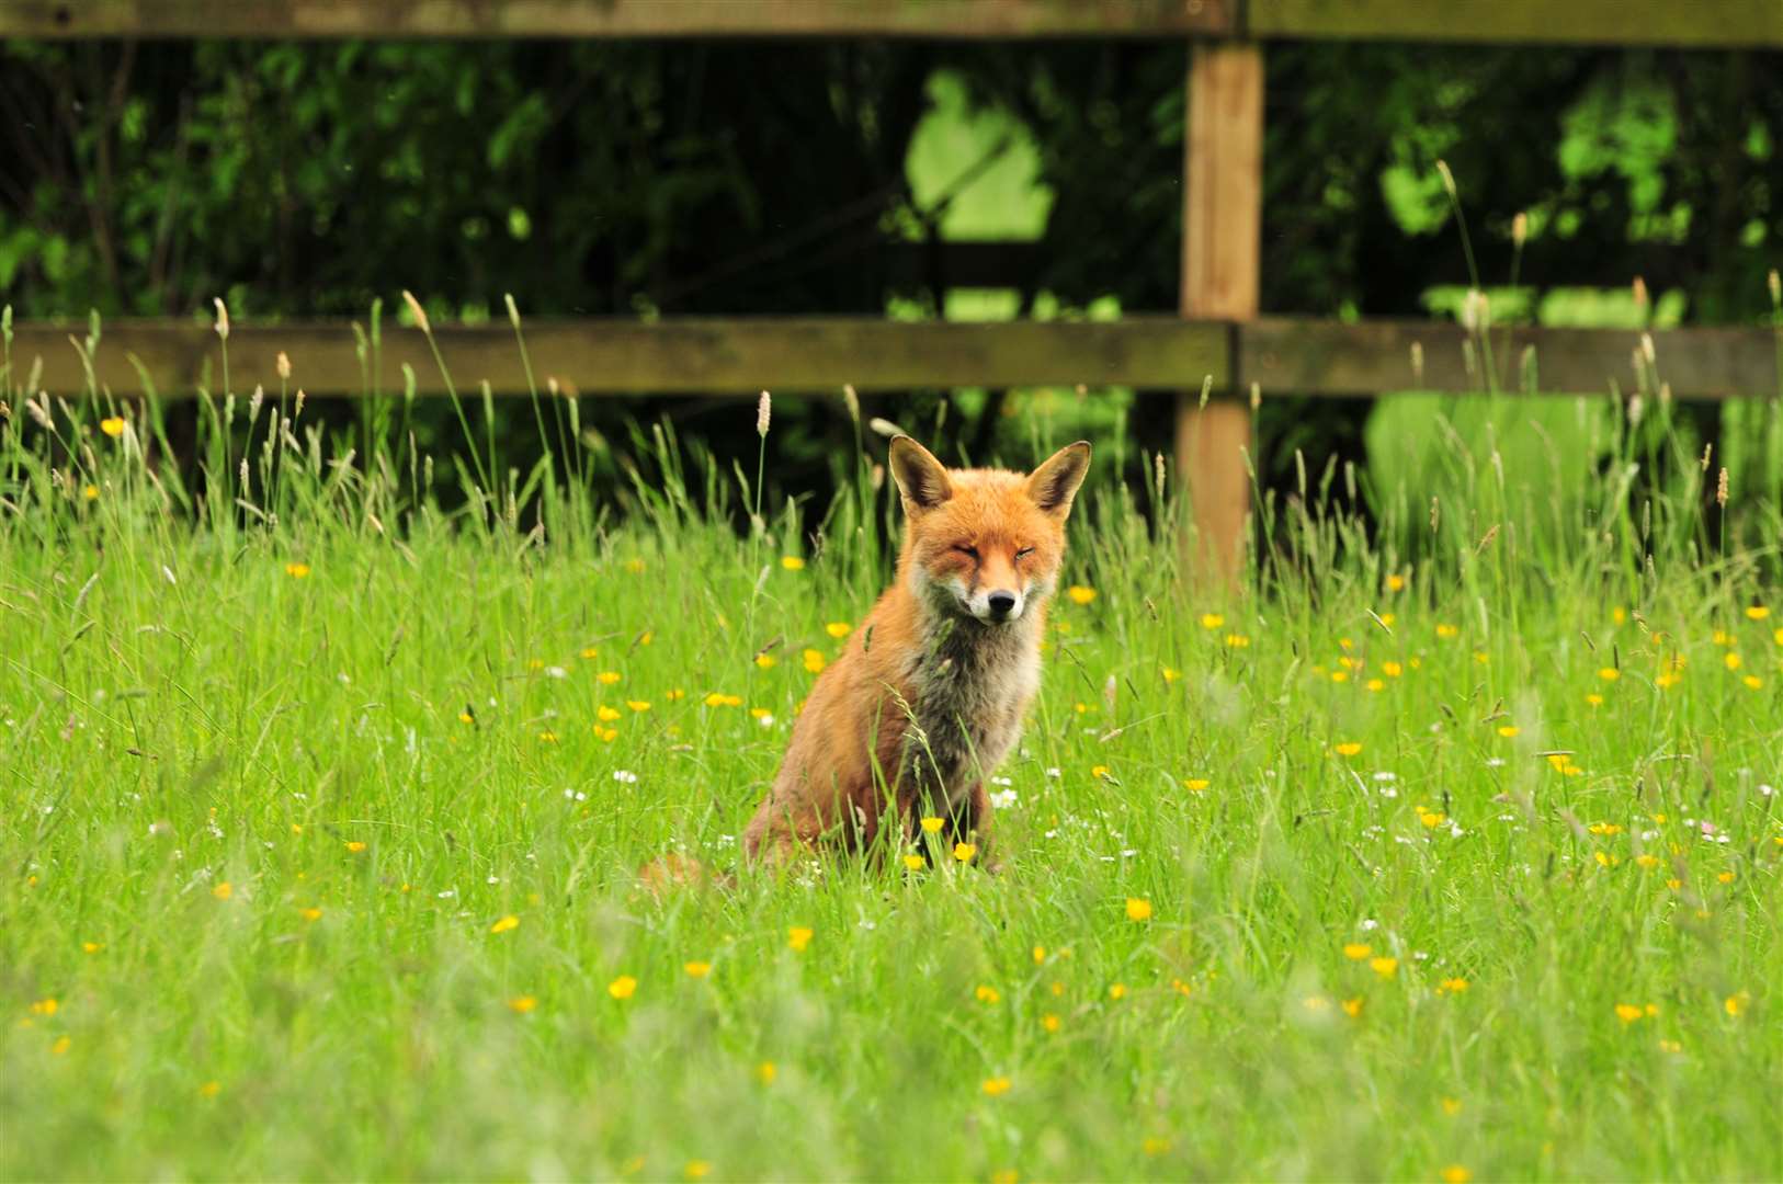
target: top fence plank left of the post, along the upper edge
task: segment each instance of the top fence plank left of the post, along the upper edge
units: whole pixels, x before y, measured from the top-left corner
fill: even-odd
[[[1138,37],[1237,0],[4,0],[5,37]]]

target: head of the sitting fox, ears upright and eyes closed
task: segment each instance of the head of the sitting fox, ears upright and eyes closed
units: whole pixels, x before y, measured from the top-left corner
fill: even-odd
[[[916,440],[892,440],[892,478],[909,530],[900,576],[949,615],[1020,621],[1052,596],[1064,519],[1089,471],[1089,444],[1066,444],[1029,474],[949,471]]]

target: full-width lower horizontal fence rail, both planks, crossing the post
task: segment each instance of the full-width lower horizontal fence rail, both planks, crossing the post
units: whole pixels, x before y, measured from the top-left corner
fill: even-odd
[[[14,326],[12,385],[41,360],[39,387],[86,389],[84,323]],[[460,391],[489,382],[524,394],[526,371],[506,321],[435,330]],[[1606,394],[1658,389],[1681,399],[1778,396],[1779,335],[1762,328],[1656,330],[1653,362],[1630,330],[1494,328],[1485,339],[1434,321],[1337,321],[1261,317],[1250,323],[1136,316],[1122,321],[938,323],[875,317],[540,319],[526,348],[540,387],[576,394],[834,394],[913,387],[1141,387],[1366,398],[1489,389],[1539,394]],[[314,396],[444,394],[439,366],[419,330],[389,325],[360,360],[351,323],[235,325],[228,339],[230,387],[278,389],[276,360],[291,358],[291,387]],[[223,349],[198,323],[112,321],[93,357],[102,389],[119,396],[180,398],[221,387]],[[1491,366],[1491,382],[1489,371]],[[1637,366],[1640,367],[1637,371]],[[369,373],[369,378],[367,378]],[[146,378],[146,382],[144,382]]]

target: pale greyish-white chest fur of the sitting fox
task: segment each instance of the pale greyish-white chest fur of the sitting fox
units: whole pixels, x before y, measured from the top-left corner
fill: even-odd
[[[1009,624],[936,622],[909,670],[915,728],[906,769],[925,810],[952,813],[1022,736],[1039,688],[1039,615]]]

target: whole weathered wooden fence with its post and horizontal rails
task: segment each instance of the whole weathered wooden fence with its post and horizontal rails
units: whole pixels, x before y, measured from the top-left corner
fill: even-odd
[[[1173,37],[1187,46],[1180,319],[1004,325],[852,317],[542,321],[528,328],[535,371],[594,392],[834,392],[952,385],[1177,389],[1177,460],[1207,571],[1232,578],[1250,487],[1252,383],[1264,392],[1371,396],[1487,389],[1678,398],[1776,396],[1767,330],[1491,330],[1491,349],[1437,323],[1259,317],[1262,45],[1277,37],[1783,48],[1783,0],[4,0],[0,37]],[[1730,132],[1731,134],[1731,132]],[[70,335],[84,325],[23,323],[14,362],[43,358],[48,389],[78,389]],[[506,325],[439,332],[462,385],[522,391]],[[98,380],[139,392],[141,376],[184,392],[214,366],[216,337],[173,321],[112,323]],[[273,385],[283,349],[314,394],[366,389],[344,325],[237,326],[237,389]],[[1487,357],[1496,373],[1487,373]],[[419,333],[383,337],[378,385],[440,391]],[[1216,398],[1202,407],[1202,383]]]

